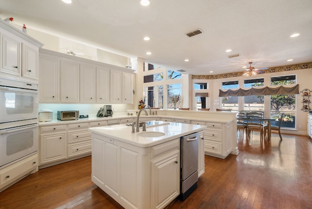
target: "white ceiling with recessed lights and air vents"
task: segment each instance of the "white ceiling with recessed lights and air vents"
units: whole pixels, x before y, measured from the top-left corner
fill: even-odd
[[[194,75],[240,72],[249,62],[312,62],[312,0],[150,0],[147,7],[139,1],[0,0],[0,17]],[[198,28],[202,34],[185,35]],[[233,54],[240,56],[227,57]]]

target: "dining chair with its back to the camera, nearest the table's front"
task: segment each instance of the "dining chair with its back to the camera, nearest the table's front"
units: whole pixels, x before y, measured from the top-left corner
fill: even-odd
[[[254,130],[259,131],[260,133],[260,140],[263,139],[263,112],[252,111],[247,112],[247,135],[250,136],[251,132]]]

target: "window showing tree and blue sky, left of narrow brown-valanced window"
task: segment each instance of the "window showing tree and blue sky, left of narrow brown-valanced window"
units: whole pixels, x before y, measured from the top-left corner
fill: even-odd
[[[181,105],[181,84],[171,84],[168,85],[168,109],[176,109],[182,107]]]

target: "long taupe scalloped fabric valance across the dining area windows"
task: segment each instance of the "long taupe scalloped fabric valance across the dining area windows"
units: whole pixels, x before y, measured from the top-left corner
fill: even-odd
[[[299,94],[299,84],[288,87],[284,85],[280,85],[278,87],[262,87],[262,88],[249,88],[242,89],[239,88],[237,90],[228,89],[226,91],[222,91],[219,89],[219,97],[239,97],[239,96],[262,96],[262,95],[291,95],[291,94]]]

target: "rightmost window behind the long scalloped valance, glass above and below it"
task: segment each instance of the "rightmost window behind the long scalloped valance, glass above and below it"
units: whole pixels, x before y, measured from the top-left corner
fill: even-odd
[[[278,76],[271,77],[271,85],[290,85],[296,84],[296,76]],[[271,95],[271,114],[274,115],[275,112],[284,112],[284,118],[281,127],[284,128],[295,128],[296,122],[296,95]],[[274,121],[273,125],[277,123]]]

